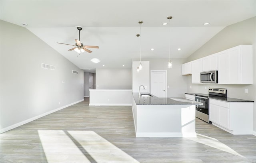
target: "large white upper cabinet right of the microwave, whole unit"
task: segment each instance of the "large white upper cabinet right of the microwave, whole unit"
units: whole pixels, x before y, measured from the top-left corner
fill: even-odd
[[[252,77],[252,45],[239,45],[218,53],[219,84],[253,84]]]

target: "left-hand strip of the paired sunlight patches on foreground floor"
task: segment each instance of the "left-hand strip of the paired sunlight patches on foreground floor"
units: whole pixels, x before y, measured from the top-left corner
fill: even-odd
[[[48,163],[91,163],[62,130],[38,130]]]

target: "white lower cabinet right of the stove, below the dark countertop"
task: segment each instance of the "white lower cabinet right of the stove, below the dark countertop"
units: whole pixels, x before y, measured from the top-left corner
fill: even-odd
[[[253,102],[224,102],[210,98],[209,117],[214,126],[231,134],[253,134]]]

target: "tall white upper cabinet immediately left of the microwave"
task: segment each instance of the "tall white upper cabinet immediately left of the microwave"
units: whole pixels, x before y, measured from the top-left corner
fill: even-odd
[[[201,83],[200,73],[202,72],[202,59],[191,62],[192,83]]]

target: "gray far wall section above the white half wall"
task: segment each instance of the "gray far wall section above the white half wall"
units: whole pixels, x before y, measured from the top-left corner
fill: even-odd
[[[96,69],[96,89],[132,89],[131,69]]]

